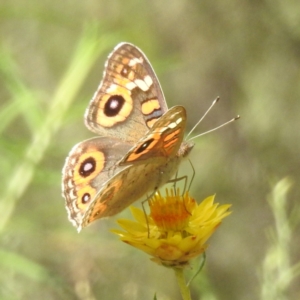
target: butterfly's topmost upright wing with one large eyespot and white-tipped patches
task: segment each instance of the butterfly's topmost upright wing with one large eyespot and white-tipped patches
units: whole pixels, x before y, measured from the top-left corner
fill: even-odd
[[[144,53],[121,43],[109,55],[103,80],[85,114],[99,135],[137,141],[167,111],[158,79]]]

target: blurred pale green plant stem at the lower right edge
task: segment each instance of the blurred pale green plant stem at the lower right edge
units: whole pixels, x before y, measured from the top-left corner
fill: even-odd
[[[274,214],[275,226],[269,230],[271,245],[262,265],[261,299],[264,300],[291,299],[290,287],[300,273],[300,262],[293,266],[290,258],[294,244],[293,230],[295,225],[298,226],[300,223],[298,215],[297,220],[294,220],[295,224],[292,224],[292,218],[288,213],[287,193],[290,188],[290,179],[281,180],[275,185],[269,201]],[[293,209],[299,211],[299,205]]]

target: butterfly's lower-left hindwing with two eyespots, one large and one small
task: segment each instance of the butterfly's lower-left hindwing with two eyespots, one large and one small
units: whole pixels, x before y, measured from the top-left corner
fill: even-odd
[[[62,194],[69,220],[78,227],[102,186],[122,167],[117,162],[132,144],[97,137],[73,147],[63,168]]]

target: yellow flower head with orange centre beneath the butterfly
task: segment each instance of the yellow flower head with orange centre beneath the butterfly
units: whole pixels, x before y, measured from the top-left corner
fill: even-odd
[[[169,267],[182,267],[203,253],[208,238],[220,225],[223,218],[231,212],[231,205],[214,203],[210,196],[199,205],[186,192],[183,196],[179,190],[166,196],[157,192],[150,200],[150,215],[136,207],[131,213],[136,221],[118,220],[125,230],[113,230],[121,240],[152,256],[156,263]]]

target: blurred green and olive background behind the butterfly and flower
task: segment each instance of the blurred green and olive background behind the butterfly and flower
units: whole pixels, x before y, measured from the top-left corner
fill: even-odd
[[[241,115],[190,156],[197,200],[233,204],[193,299],[299,299],[299,16],[296,0],[2,0],[0,299],[181,299],[172,271],[109,232],[116,218],[78,234],[61,197],[65,158],[94,136],[83,114],[121,41],[146,53],[187,130],[216,96],[197,133]],[[286,206],[274,218],[276,195]],[[272,288],[282,294],[268,298]]]

